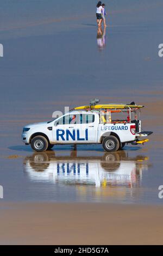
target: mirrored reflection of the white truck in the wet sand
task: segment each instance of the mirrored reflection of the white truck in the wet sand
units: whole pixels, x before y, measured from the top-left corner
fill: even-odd
[[[50,181],[68,185],[139,186],[147,157],[128,157],[125,151],[103,156],[55,156],[34,153],[24,159],[24,172],[33,181]]]

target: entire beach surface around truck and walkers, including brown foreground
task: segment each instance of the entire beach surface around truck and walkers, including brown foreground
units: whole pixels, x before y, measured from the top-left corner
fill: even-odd
[[[110,1],[102,36],[94,0],[1,2],[0,244],[162,244],[162,1]],[[95,97],[145,105],[149,142],[109,154],[21,142],[24,125]]]

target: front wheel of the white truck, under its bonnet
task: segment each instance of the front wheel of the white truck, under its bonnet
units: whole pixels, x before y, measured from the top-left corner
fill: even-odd
[[[43,136],[36,136],[32,139],[30,145],[34,151],[43,152],[48,148],[48,141]]]

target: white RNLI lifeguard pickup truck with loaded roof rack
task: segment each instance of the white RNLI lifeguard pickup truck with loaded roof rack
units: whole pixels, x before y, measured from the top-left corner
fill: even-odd
[[[93,100],[55,120],[24,126],[22,141],[39,152],[50,150],[55,144],[102,144],[112,152],[126,143],[143,144],[152,132],[141,131],[142,107],[134,102],[99,105]]]

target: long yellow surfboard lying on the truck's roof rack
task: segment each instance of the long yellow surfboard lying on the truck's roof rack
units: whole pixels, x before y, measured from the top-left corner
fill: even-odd
[[[74,109],[124,109],[124,108],[142,108],[144,106],[141,105],[127,105],[127,104],[97,104],[95,106],[85,105],[85,106],[79,106],[75,107]]]

